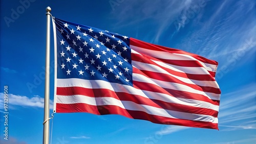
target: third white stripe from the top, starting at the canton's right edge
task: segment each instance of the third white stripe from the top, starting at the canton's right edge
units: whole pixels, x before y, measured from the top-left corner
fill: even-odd
[[[151,84],[155,84],[157,86],[163,87],[163,88],[187,91],[187,92],[191,92],[191,93],[195,93],[195,94],[201,94],[211,100],[219,100],[220,99],[220,94],[200,91],[200,90],[191,88],[187,85],[183,85],[183,84],[179,84],[179,83],[164,82],[164,81],[160,81],[160,80],[156,80],[156,79],[150,79],[150,78],[147,78],[140,74],[133,73],[133,81],[151,83]]]

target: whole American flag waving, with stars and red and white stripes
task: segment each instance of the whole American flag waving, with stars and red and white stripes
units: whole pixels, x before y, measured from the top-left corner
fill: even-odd
[[[54,111],[218,129],[218,62],[53,18]]]

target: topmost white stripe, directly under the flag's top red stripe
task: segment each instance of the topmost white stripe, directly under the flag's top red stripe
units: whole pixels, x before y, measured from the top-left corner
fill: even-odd
[[[144,49],[142,47],[138,47],[138,46],[134,46],[134,45],[130,45],[130,47],[137,53],[145,54],[145,55],[152,56],[155,58],[161,58],[161,59],[166,59],[166,60],[196,60],[196,61],[200,62],[204,66],[205,69],[207,69],[209,71],[216,72],[217,65],[201,62],[200,60],[198,60],[192,56],[189,56],[189,55],[148,50],[148,49]]]

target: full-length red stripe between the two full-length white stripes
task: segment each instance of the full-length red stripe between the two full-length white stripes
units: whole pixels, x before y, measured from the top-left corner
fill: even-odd
[[[182,104],[168,103],[160,100],[148,99],[141,97],[140,95],[129,94],[125,92],[114,92],[109,89],[88,89],[82,87],[57,87],[57,95],[86,95],[92,98],[111,97],[120,101],[132,101],[140,105],[148,105],[156,108],[162,108],[166,110],[180,111],[186,113],[218,116],[218,111],[199,108],[193,106],[187,106]]]

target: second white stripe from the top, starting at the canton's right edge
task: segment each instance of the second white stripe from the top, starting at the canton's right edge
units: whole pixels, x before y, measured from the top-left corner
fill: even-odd
[[[143,63],[143,62],[132,61],[132,65],[134,65],[134,67],[136,67],[140,70],[147,70],[147,71],[152,71],[152,72],[156,72],[156,73],[167,74],[169,76],[172,76],[174,78],[181,80],[184,83],[219,88],[219,85],[217,84],[216,81],[198,81],[198,80],[191,80],[191,79],[179,77],[179,76],[168,73],[168,71],[166,71],[166,70],[162,69],[161,67],[154,65],[154,64],[147,64],[147,63]],[[168,67],[166,67],[166,68],[168,68]]]

